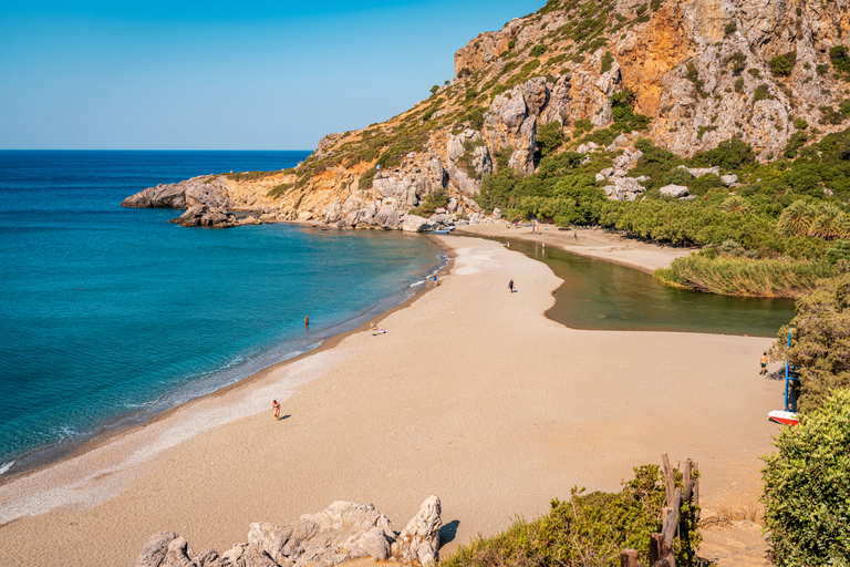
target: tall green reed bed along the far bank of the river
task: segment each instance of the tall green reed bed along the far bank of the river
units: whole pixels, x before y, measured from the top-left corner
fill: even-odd
[[[743,252],[744,248],[738,247]],[[818,280],[835,274],[826,259],[754,259],[733,254],[716,257],[692,254],[676,258],[670,268],[656,270],[655,277],[726,296],[798,297],[811,292]]]

